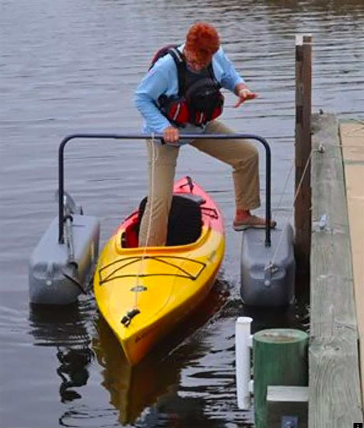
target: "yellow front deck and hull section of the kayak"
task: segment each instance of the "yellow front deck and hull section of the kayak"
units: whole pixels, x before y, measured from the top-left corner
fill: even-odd
[[[96,303],[131,365],[192,312],[214,285],[225,246],[223,220],[215,212],[218,218],[202,216],[201,235],[191,244],[123,248],[127,224],[122,223],[103,248],[94,276]]]

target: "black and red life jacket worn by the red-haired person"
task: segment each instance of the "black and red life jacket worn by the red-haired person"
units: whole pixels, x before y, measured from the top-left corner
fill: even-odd
[[[187,123],[196,126],[206,125],[223,112],[224,96],[220,91],[212,62],[201,72],[195,73],[187,68],[184,55],[178,45],[167,45],[154,55],[149,70],[159,58],[168,53],[177,67],[178,95],[158,98],[158,108],[174,125],[183,127]]]

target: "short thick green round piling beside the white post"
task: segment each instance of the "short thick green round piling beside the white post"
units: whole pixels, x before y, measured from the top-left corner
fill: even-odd
[[[267,387],[307,386],[307,333],[294,329],[261,330],[253,336],[254,416],[256,428],[268,427]]]

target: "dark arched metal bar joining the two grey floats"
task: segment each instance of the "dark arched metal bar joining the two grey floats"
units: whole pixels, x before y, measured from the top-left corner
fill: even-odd
[[[162,135],[150,134],[71,134],[63,138],[58,149],[58,242],[63,244],[63,193],[64,193],[64,147],[69,140],[76,138],[113,139],[113,140],[162,140]],[[180,140],[256,140],[265,147],[265,247],[271,246],[271,148],[267,140],[254,134],[185,134],[180,135]]]

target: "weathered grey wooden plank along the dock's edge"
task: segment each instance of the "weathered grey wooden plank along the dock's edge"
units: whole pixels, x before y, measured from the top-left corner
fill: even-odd
[[[363,419],[343,160],[334,115],[313,115],[309,426]],[[320,224],[321,220],[321,224]],[[325,221],[324,221],[325,220]]]

